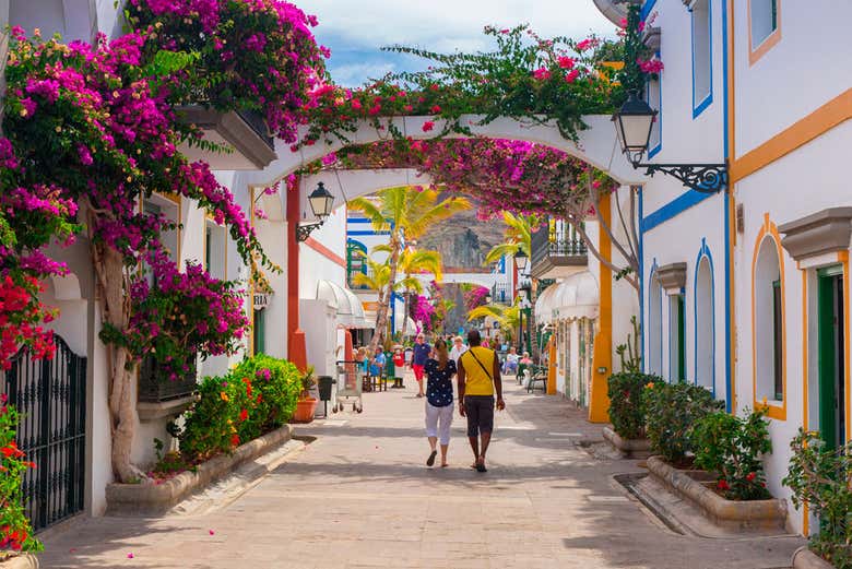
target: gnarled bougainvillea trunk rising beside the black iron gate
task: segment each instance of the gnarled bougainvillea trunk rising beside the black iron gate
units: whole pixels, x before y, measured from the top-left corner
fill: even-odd
[[[90,227],[94,227],[94,215],[90,215]],[[126,331],[130,322],[130,292],[127,286],[125,262],[121,253],[104,242],[92,239],[92,262],[97,278],[102,321],[118,331]],[[128,483],[144,477],[144,473],[130,460],[133,442],[132,374],[135,365],[128,349],[115,344],[107,345],[109,370],[109,427],[113,436],[110,451],[113,473],[118,482]]]

